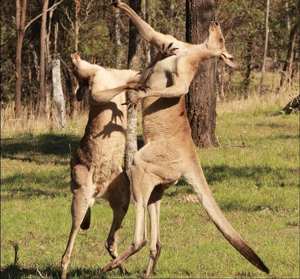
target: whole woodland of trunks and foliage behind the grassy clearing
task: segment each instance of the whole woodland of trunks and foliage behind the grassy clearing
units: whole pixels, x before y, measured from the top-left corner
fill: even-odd
[[[71,53],[77,51],[82,59],[102,66],[127,68],[129,18],[110,3],[111,0],[45,0],[43,4],[36,0],[1,0],[1,110],[11,108],[6,116],[53,116],[53,59],[60,60],[70,117],[87,110],[89,103],[87,97],[81,103],[75,101]],[[263,64],[266,6],[267,0],[215,0],[216,20],[221,24],[227,50],[240,62],[240,67],[233,70],[218,61],[217,100],[233,95],[247,97],[252,92],[254,74],[261,71]],[[142,17],[157,31],[185,40],[185,9],[185,0],[145,0]],[[270,1],[269,29],[267,71],[281,76],[281,81],[265,90],[295,88],[295,82],[299,86],[299,0]],[[20,48],[17,42],[22,37]],[[142,69],[155,50],[143,40],[141,43]],[[20,104],[15,103],[17,86]]]

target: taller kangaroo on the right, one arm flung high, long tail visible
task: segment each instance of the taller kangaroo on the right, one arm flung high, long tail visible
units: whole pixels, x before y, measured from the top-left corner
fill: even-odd
[[[218,22],[209,27],[209,37],[202,44],[192,45],[170,35],[156,32],[127,4],[115,1],[132,19],[142,37],[159,46],[173,42],[176,56],[161,60],[153,67],[146,80],[152,90],[138,92],[126,103],[136,105],[142,99],[142,125],[145,145],[134,156],[131,166],[132,190],[135,203],[135,230],[133,243],[119,257],[102,269],[102,273],[119,267],[124,260],[138,252],[147,243],[146,211],[150,218],[150,260],[146,277],[154,273],[160,255],[159,211],[164,191],[185,179],[195,191],[205,211],[220,232],[248,261],[269,273],[268,268],[246,244],[223,216],[203,174],[185,109],[185,94],[189,90],[201,61],[220,57],[232,67],[238,61],[225,49]]]

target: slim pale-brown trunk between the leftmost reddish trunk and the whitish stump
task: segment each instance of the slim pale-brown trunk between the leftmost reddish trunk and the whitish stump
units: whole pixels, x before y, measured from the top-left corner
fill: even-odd
[[[45,95],[45,52],[46,52],[46,21],[49,0],[44,0],[43,13],[40,27],[40,81],[39,81],[39,113],[44,115],[46,111]]]

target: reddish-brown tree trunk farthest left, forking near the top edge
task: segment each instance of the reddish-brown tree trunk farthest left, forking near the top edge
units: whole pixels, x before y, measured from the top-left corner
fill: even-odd
[[[21,58],[22,44],[25,33],[25,16],[26,16],[27,0],[23,0],[22,8],[20,1],[16,0],[16,54],[15,54],[15,92],[14,92],[14,116],[19,118],[21,115]]]

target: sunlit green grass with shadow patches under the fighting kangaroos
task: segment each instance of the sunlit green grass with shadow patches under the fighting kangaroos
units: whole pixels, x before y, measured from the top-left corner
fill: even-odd
[[[272,116],[289,99],[253,95],[219,104],[221,148],[198,149],[222,212],[270,275],[231,247],[180,180],[163,197],[163,247],[154,278],[299,278],[299,114]],[[21,127],[13,132],[1,117],[1,278],[37,278],[37,269],[44,278],[59,278],[71,225],[69,158],[84,122],[86,116],[78,117],[65,134],[45,124],[43,131],[16,133]],[[104,248],[111,220],[109,205],[97,200],[91,228],[76,237],[68,278],[120,277],[118,270],[99,276],[111,260]],[[130,205],[119,252],[130,246],[133,226]],[[149,245],[124,262],[131,273],[125,278],[143,277],[148,259]]]

